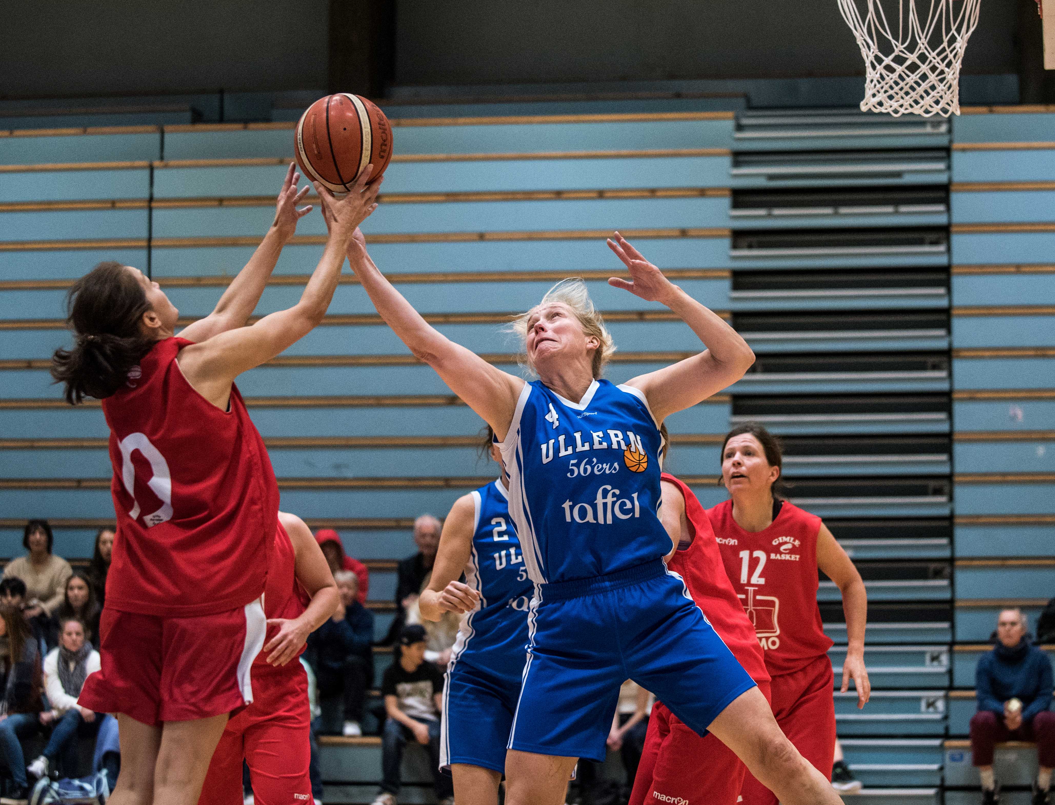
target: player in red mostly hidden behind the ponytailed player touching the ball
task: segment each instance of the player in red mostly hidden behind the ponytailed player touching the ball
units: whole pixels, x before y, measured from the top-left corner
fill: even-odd
[[[242,805],[243,760],[260,805],[311,801],[308,676],[296,658],[340,602],[311,530],[296,515],[279,512],[264,591],[268,641],[253,659],[253,703],[227,723],[199,805]]]

